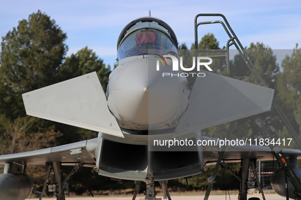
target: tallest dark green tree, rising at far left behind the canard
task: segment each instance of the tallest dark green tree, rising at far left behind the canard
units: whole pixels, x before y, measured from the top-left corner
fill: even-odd
[[[57,82],[68,47],[67,36],[41,11],[19,21],[2,38],[0,60],[0,113],[25,116],[21,94]]]

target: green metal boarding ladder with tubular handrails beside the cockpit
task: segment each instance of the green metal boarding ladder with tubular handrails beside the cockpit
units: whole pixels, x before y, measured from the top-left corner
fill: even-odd
[[[199,17],[222,17],[224,22],[221,20],[215,20],[215,21],[202,21],[198,22]],[[250,60],[249,55],[241,45],[240,41],[238,40],[237,36],[233,32],[229,22],[227,21],[226,17],[222,14],[198,14],[195,17],[195,48],[196,53],[198,53],[198,27],[199,25],[204,24],[215,24],[220,23],[224,27],[224,30],[226,31],[227,35],[229,36],[229,40],[227,41],[226,50],[220,50],[225,52],[224,55],[220,56],[226,56],[226,66],[227,66],[227,76],[230,76],[230,64],[229,64],[229,47],[234,45],[236,49],[238,50],[240,56],[244,60],[244,63],[247,65],[251,73],[254,75],[257,82],[262,85],[263,87],[267,87],[266,83],[264,82],[263,78],[258,73],[257,69],[255,68],[253,62]],[[204,52],[204,51],[203,51]],[[235,77],[234,77],[235,78]],[[277,111],[279,117],[284,122],[287,130],[291,134],[292,138],[296,142],[297,146],[301,150],[301,140],[298,137],[296,131],[294,130],[293,126],[289,122],[288,118],[286,117],[285,113],[283,112],[282,108],[276,101],[276,99],[273,97],[272,100],[272,106]],[[271,131],[270,127],[267,127],[265,123],[259,118],[258,115],[253,116],[254,122],[257,124],[259,131],[261,132],[262,136],[268,139],[272,139],[277,137],[276,134],[273,134],[273,131]],[[286,157],[283,155],[282,150],[279,148],[279,146],[269,146],[271,151],[275,154],[275,157],[277,158],[278,162],[280,163],[280,166],[284,169],[285,174],[289,177],[290,181],[292,182],[293,186],[295,187],[295,196],[297,199],[301,199],[301,183],[299,178],[294,173],[291,164],[288,162]],[[219,159],[220,160],[220,159]],[[220,164],[218,164],[219,166]],[[286,177],[287,178],[287,177]],[[210,191],[209,191],[210,192]],[[207,193],[206,193],[207,195]],[[209,194],[208,194],[209,195]],[[287,199],[288,199],[288,191],[287,191]]]

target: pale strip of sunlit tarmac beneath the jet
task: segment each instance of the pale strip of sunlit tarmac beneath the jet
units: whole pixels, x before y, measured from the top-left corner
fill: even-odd
[[[285,200],[286,197],[283,196],[279,196],[278,194],[265,194],[265,199],[266,200]],[[209,196],[209,200],[231,200],[231,199],[237,199],[238,195],[227,195],[227,197],[225,195],[210,195]],[[252,195],[248,195],[248,199],[251,197],[258,197],[261,200],[263,200],[261,194],[252,194]],[[136,200],[140,200],[140,198],[145,199],[143,196],[138,196],[136,197]],[[157,198],[162,198],[162,196],[157,196]],[[204,199],[204,195],[200,195],[200,196],[172,196],[171,197],[172,200],[202,200]],[[39,200],[38,198],[28,198],[31,200]],[[56,198],[42,198],[45,200],[56,200]],[[132,200],[131,196],[128,197],[66,197],[66,200]]]

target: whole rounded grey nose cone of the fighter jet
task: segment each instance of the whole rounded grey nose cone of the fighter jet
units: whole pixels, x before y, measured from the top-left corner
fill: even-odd
[[[162,72],[156,71],[155,58],[143,58],[124,63],[112,77],[108,106],[125,128],[168,128],[186,109],[186,78],[162,77]]]

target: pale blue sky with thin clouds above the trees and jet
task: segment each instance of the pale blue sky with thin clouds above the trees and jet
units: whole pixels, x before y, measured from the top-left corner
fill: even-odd
[[[76,1],[28,0],[1,1],[0,36],[5,36],[18,21],[41,10],[67,34],[67,55],[88,46],[104,61],[114,66],[117,40],[130,21],[149,15],[167,22],[174,30],[179,44],[188,48],[194,43],[194,19],[200,13],[225,15],[243,46],[262,42],[272,49],[293,49],[301,43],[301,1]],[[221,20],[218,17],[199,18],[200,21]],[[221,24],[199,27],[199,39],[213,33],[226,45],[229,39]]]

